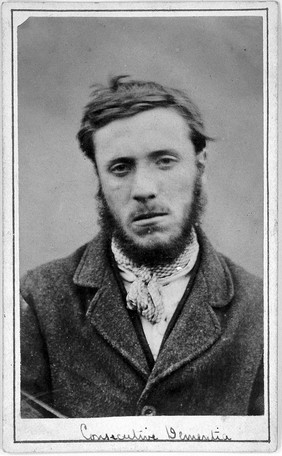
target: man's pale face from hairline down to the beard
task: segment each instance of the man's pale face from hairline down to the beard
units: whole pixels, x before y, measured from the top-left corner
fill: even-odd
[[[198,175],[189,128],[177,111],[155,108],[95,134],[101,190],[124,238],[145,251],[183,237]]]

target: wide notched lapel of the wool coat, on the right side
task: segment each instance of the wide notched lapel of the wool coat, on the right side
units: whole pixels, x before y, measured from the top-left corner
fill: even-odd
[[[213,310],[230,302],[233,282],[225,261],[203,233],[198,233],[201,262],[193,288],[151,374],[152,382],[198,358],[221,335]]]

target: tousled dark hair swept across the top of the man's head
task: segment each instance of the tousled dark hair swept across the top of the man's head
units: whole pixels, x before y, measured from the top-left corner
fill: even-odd
[[[110,122],[132,117],[154,108],[174,108],[190,127],[190,139],[199,153],[212,140],[205,134],[204,124],[197,106],[185,92],[150,81],[121,81],[128,76],[110,80],[109,87],[95,85],[92,100],[87,104],[77,134],[84,154],[95,164],[93,134]]]

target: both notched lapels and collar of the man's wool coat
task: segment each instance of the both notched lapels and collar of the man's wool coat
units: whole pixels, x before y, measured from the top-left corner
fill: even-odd
[[[199,270],[151,374],[110,265],[108,243],[101,233],[88,244],[74,274],[75,284],[95,289],[87,310],[92,325],[144,378],[152,378],[152,382],[200,356],[215,343],[221,327],[212,308],[227,305],[234,295],[224,258],[201,230],[197,230],[197,235],[201,254]]]

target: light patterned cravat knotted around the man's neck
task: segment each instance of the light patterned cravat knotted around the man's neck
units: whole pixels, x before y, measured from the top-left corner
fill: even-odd
[[[137,266],[124,255],[114,238],[111,247],[119,270],[125,273],[127,275],[126,280],[131,282],[126,297],[127,308],[136,309],[152,324],[159,323],[164,312],[162,285],[164,282],[169,283],[177,278],[184,269],[185,273],[188,274],[195,264],[199,244],[194,229],[192,229],[189,243],[179,257],[172,263],[157,266],[154,269]],[[190,268],[189,265],[191,265]]]

